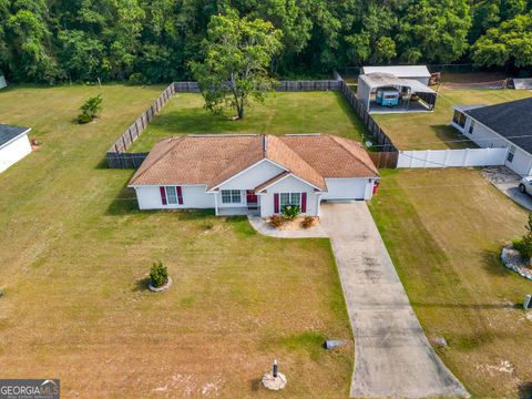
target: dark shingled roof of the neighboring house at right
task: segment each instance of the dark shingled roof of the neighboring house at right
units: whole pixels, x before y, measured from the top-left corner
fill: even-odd
[[[532,154],[532,98],[482,106],[466,113]]]

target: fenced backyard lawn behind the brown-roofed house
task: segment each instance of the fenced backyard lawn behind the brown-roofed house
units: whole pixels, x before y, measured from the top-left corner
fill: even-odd
[[[360,141],[366,127],[337,92],[270,93],[264,105],[253,103],[242,121],[234,113],[213,114],[201,94],[177,93],[133,144],[131,151],[150,151],[163,139],[182,134],[327,133]]]

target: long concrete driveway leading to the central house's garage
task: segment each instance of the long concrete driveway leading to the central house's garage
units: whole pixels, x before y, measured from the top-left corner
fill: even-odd
[[[429,345],[364,202],[325,203],[355,336],[351,397],[469,396]]]

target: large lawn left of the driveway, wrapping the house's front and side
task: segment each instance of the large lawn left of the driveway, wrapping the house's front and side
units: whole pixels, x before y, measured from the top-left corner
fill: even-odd
[[[61,378],[64,397],[347,397],[352,336],[329,242],[255,234],[211,212],[139,212],[110,144],[163,88],[11,88],[2,123],[42,147],[0,174],[2,378]],[[101,119],[73,122],[102,93]],[[252,115],[249,115],[252,119]],[[273,123],[273,122],[272,122]],[[146,290],[152,262],[174,279]],[[346,339],[339,350],[325,338]]]

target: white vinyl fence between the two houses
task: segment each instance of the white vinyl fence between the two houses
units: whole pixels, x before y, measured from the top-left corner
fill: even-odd
[[[400,151],[397,167],[504,165],[508,149]]]

